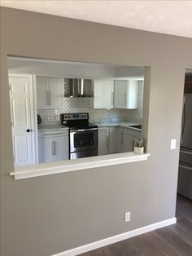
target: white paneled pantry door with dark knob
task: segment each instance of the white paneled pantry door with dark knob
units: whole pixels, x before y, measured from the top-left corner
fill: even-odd
[[[9,76],[15,166],[34,163],[33,84],[26,75]]]

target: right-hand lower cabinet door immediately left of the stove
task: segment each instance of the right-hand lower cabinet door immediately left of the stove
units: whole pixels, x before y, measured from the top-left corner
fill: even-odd
[[[68,136],[54,137],[55,161],[67,160],[68,156]]]

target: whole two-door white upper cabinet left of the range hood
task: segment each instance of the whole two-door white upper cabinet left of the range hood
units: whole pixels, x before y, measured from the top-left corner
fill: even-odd
[[[63,78],[36,77],[37,108],[63,107]]]

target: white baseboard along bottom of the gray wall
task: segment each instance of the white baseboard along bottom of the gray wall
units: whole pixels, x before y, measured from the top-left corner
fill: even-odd
[[[107,237],[103,240],[95,241],[95,242],[87,244],[87,245],[82,245],[80,247],[76,247],[76,248],[73,248],[73,249],[68,249],[66,251],[63,251],[62,253],[54,254],[52,256],[75,256],[75,255],[78,255],[78,254],[83,254],[83,253],[89,252],[90,250],[98,249],[98,248],[106,246],[106,245],[111,245],[111,244],[114,244],[116,242],[123,241],[125,239],[129,239],[133,236],[142,235],[146,232],[151,232],[151,231],[153,231],[155,229],[158,229],[160,227],[166,227],[166,226],[169,226],[169,225],[172,225],[172,224],[175,224],[175,223],[177,223],[177,218],[169,218],[169,219],[166,219],[166,220],[161,221],[159,223],[154,223],[154,224],[151,224],[151,225],[147,225],[145,227],[140,227],[140,228],[134,229],[134,230],[129,231],[129,232],[121,233],[121,234],[116,235],[116,236]]]

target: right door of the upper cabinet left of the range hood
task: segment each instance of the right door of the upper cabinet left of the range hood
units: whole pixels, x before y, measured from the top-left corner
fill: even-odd
[[[50,108],[63,107],[63,78],[50,77],[49,81],[49,97]]]

